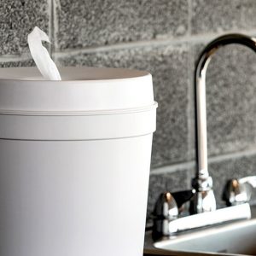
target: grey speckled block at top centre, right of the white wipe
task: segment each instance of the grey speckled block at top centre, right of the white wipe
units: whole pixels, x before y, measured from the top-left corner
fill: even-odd
[[[78,49],[186,34],[186,0],[60,0],[58,46]]]

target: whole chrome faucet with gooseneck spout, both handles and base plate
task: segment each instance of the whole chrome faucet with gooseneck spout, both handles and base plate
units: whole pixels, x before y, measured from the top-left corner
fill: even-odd
[[[154,208],[155,237],[170,236],[184,230],[192,230],[211,224],[251,217],[248,204],[251,189],[256,188],[256,177],[232,179],[224,188],[224,201],[227,207],[216,210],[212,189],[212,177],[207,164],[207,103],[206,73],[212,55],[226,44],[242,44],[256,52],[256,38],[241,34],[227,34],[216,38],[202,51],[195,68],[195,142],[196,175],[192,188],[176,193],[160,195]],[[248,188],[247,186],[250,186]],[[190,202],[189,216],[181,214],[185,202]],[[200,214],[197,214],[200,213]],[[185,216],[185,217],[182,217]],[[182,218],[182,219],[181,219]]]

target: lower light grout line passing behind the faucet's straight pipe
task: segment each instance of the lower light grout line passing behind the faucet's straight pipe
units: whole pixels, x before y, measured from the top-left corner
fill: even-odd
[[[256,148],[251,149],[251,150],[236,152],[236,153],[223,154],[223,155],[209,157],[208,162],[212,164],[212,163],[223,161],[223,160],[234,160],[234,159],[238,159],[238,158],[245,157],[245,156],[252,156],[254,154],[256,154]],[[182,171],[184,169],[189,169],[189,168],[195,168],[194,160],[184,162],[184,163],[178,163],[178,164],[175,164],[172,166],[163,166],[163,167],[152,169],[150,172],[150,175],[174,173],[174,172]]]

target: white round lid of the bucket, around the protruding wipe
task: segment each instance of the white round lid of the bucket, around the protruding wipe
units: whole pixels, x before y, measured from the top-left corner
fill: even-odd
[[[61,81],[36,67],[0,68],[0,113],[105,113],[154,104],[152,76],[123,68],[60,67]]]

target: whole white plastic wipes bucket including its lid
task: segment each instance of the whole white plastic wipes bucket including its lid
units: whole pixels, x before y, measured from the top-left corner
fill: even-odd
[[[0,255],[142,256],[151,75],[0,69]]]

